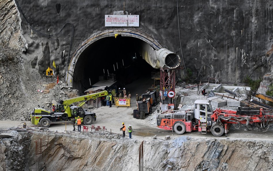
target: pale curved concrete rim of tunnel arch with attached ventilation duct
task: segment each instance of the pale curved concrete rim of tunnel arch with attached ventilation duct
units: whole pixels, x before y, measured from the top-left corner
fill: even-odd
[[[69,64],[69,67],[68,67],[68,70],[67,70],[67,77],[66,77],[66,81],[67,81],[67,83],[69,85],[72,85],[74,66],[77,63],[77,60],[79,59],[81,53],[84,52],[84,50],[86,50],[86,48],[88,46],[90,46],[92,43],[96,42],[97,40],[103,39],[105,37],[113,37],[116,34],[121,35],[121,36],[135,37],[135,38],[138,38],[140,40],[143,40],[144,42],[147,43],[147,45],[145,46],[145,50],[149,49],[150,54],[153,54],[153,55],[148,55],[148,56],[145,55],[146,57],[143,57],[143,59],[145,58],[147,63],[149,63],[154,68],[160,68],[160,67],[164,66],[166,57],[162,58],[163,62],[162,62],[162,60],[159,60],[159,59],[157,59],[155,57],[155,56],[158,56],[157,52],[160,51],[160,50],[163,50],[164,48],[156,40],[154,40],[152,37],[150,37],[146,33],[143,33],[143,32],[138,31],[138,30],[129,30],[129,29],[106,30],[106,31],[98,33],[94,37],[88,39],[73,54],[73,57],[71,59],[71,62]],[[168,51],[167,49],[164,49],[164,50]],[[169,51],[169,53],[165,53],[165,54],[168,55],[170,53],[174,54],[173,52],[170,52],[170,51]],[[153,57],[151,57],[151,56],[153,56]],[[179,64],[180,64],[180,57],[178,55],[177,55],[177,61],[179,61]],[[179,64],[177,64],[177,66]],[[173,65],[173,66],[175,66],[175,65]],[[177,66],[175,66],[175,67],[177,67]]]

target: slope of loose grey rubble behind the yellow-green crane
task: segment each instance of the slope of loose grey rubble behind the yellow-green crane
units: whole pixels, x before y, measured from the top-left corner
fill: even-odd
[[[41,75],[25,74],[23,62],[19,51],[0,47],[1,120],[26,121],[37,105],[51,109],[52,100],[78,96],[78,91],[67,86],[64,80],[56,84],[46,82]]]

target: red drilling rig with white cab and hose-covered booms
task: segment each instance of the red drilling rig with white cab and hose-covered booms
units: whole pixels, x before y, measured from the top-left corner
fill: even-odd
[[[217,108],[212,110],[209,100],[196,100],[194,110],[166,111],[157,117],[159,128],[174,130],[177,134],[200,131],[214,136],[227,136],[230,124],[245,124],[247,131],[255,125],[266,132],[273,122],[273,109],[239,107],[237,111]]]

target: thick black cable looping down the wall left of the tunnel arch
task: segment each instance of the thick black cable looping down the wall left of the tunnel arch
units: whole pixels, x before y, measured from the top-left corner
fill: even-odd
[[[61,29],[58,33],[54,33],[54,34],[45,34],[45,33],[41,33],[40,31],[34,29],[34,28],[31,26],[31,24],[29,23],[29,21],[28,21],[28,20],[26,19],[26,17],[24,16],[24,13],[23,13],[21,7],[19,6],[17,0],[14,0],[14,1],[15,1],[16,5],[17,5],[18,11],[19,11],[20,14],[23,16],[24,20],[25,20],[26,23],[29,25],[29,27],[31,27],[31,29],[34,30],[36,33],[38,33],[38,34],[40,34],[40,35],[43,35],[43,36],[46,36],[46,37],[50,38],[51,40],[57,40],[57,39],[61,36],[64,27],[65,27],[66,25],[68,25],[68,24],[71,25],[72,35],[71,35],[71,40],[70,40],[70,45],[69,45],[69,53],[68,53],[68,57],[67,57],[67,63],[68,63],[68,61],[69,61],[69,59],[70,59],[71,46],[72,46],[73,37],[74,37],[74,26],[73,26],[73,24],[72,24],[71,22],[65,23],[65,25],[63,25],[62,29]],[[55,36],[57,36],[57,35],[58,35],[57,38],[55,38],[55,39],[54,39],[54,38],[51,38],[51,37],[55,37]],[[65,67],[67,67],[67,63],[66,63],[66,65],[65,65]]]

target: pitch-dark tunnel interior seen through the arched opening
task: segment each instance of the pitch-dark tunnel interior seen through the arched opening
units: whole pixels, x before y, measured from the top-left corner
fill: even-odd
[[[99,81],[100,76],[115,74],[117,86],[124,87],[140,78],[151,83],[154,70],[141,55],[143,40],[135,37],[105,37],[90,44],[79,56],[74,66],[73,88],[80,94]],[[91,85],[90,85],[91,82]],[[144,82],[145,84],[145,82]],[[151,85],[147,85],[147,88]]]

